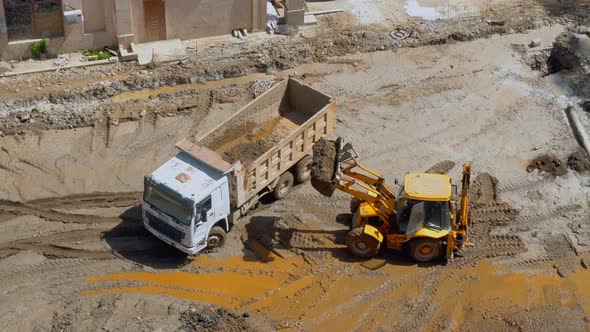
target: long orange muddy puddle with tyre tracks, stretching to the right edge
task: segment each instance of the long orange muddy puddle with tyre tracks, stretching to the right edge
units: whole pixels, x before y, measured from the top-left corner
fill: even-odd
[[[206,273],[89,277],[89,284],[105,283],[104,288],[84,293],[166,294],[242,308],[279,321],[301,321],[304,329],[316,331],[387,329],[395,320],[409,319],[401,314],[408,308],[424,303],[430,306],[429,321],[445,320],[457,328],[481,319],[479,314],[465,315],[468,310],[484,314],[515,305],[522,309],[539,304],[564,309],[581,305],[590,315],[590,271],[581,268],[567,278],[507,273],[504,267],[489,262],[461,270],[441,268],[434,274],[417,266],[386,265],[378,274],[367,274],[358,263],[335,262],[312,268],[299,256],[271,256],[266,262],[198,257],[191,263],[212,271]],[[138,285],[121,286],[124,282]],[[377,310],[383,307],[387,312]]]

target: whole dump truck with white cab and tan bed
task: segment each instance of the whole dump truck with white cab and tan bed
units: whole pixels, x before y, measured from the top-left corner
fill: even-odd
[[[191,255],[222,246],[261,197],[283,199],[310,179],[313,144],[335,126],[330,96],[291,78],[274,85],[209,132],[178,142],[178,153],[145,177],[145,228]]]

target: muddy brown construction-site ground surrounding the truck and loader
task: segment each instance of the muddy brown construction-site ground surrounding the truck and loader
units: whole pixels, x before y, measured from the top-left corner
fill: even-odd
[[[405,39],[344,13],[156,68],[0,78],[0,326],[588,330],[590,175],[563,111],[590,100],[588,6],[511,3],[408,20]],[[344,245],[351,197],[309,184],[263,200],[219,249],[187,257],[150,235],[143,176],[289,76],[337,101],[336,135],[392,188],[422,170],[457,183],[471,162],[472,245],[365,268]]]

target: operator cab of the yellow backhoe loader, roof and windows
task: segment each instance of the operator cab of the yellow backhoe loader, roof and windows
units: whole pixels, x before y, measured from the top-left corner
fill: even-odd
[[[448,175],[406,175],[397,197],[397,222],[393,231],[407,236],[423,228],[450,231],[452,188]]]

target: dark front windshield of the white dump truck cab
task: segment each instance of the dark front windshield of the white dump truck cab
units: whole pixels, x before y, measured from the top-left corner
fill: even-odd
[[[172,190],[158,187],[146,181],[143,199],[180,223],[187,226],[191,224],[193,202],[182,198]]]

